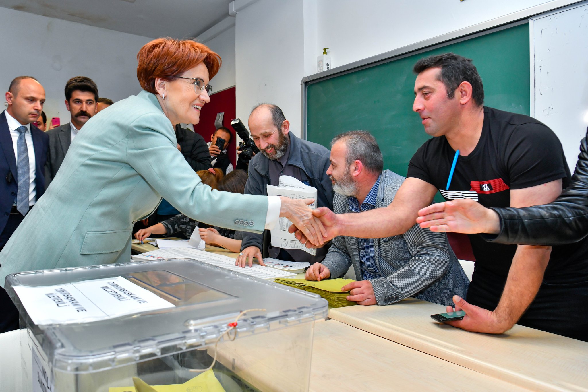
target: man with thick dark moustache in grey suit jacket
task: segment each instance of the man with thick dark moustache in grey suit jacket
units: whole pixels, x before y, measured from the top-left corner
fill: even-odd
[[[71,113],[71,121],[47,131],[49,150],[45,165],[46,185],[54,179],[64,162],[69,145],[82,126],[96,114],[98,87],[86,76],[75,76],[65,83],[65,107]]]

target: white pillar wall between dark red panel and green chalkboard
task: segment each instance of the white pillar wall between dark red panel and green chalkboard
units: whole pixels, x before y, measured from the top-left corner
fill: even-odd
[[[300,135],[303,20],[303,0],[259,0],[236,15],[235,90],[240,119],[248,119],[257,103],[275,103]]]

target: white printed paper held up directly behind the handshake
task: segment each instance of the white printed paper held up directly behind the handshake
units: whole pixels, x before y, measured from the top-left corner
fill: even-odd
[[[316,188],[308,186],[300,180],[290,176],[280,176],[279,186],[268,184],[268,196],[286,196],[290,199],[315,199],[315,202],[309,205],[311,209],[316,209]],[[316,256],[316,249],[309,249],[293,233],[288,232],[288,227],[292,222],[288,218],[280,216],[276,226],[270,230],[272,237],[272,246],[282,249],[301,249],[305,252]]]

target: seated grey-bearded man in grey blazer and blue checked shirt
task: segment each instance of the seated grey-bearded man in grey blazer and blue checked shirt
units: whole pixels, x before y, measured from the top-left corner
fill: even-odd
[[[369,132],[353,130],[331,142],[327,174],[333,182],[335,213],[386,207],[404,177],[383,169],[382,152]],[[380,239],[338,236],[322,263],[306,272],[308,280],[343,276],[353,266],[357,282],[348,300],[360,305],[388,305],[407,297],[449,305],[467,292],[469,280],[445,233],[413,226],[405,234]]]

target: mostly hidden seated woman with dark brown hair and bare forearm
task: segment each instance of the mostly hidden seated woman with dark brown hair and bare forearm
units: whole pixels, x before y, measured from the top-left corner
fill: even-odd
[[[247,173],[245,171],[233,170],[219,181],[218,190],[242,194],[245,191],[246,182]],[[208,245],[220,246],[235,253],[241,250],[243,232],[221,227],[208,227],[208,229],[201,227],[198,231],[202,240]]]

